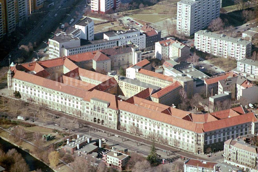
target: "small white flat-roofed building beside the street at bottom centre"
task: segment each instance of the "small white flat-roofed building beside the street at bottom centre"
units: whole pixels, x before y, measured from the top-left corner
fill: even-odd
[[[103,154],[103,160],[107,166],[122,170],[129,160],[129,155],[110,150]]]

